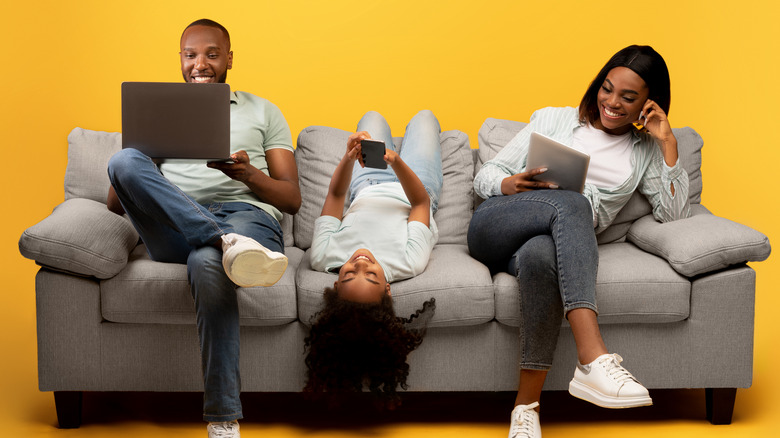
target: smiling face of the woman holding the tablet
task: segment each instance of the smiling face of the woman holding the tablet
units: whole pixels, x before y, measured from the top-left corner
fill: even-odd
[[[639,120],[650,90],[645,81],[628,67],[615,67],[599,88],[596,102],[599,119],[594,126],[602,131],[620,135],[631,129]]]

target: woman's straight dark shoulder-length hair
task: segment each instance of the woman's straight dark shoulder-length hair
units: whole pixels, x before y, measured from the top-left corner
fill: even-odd
[[[593,124],[599,119],[597,97],[607,74],[615,67],[627,67],[638,74],[650,91],[648,99],[655,101],[668,115],[672,100],[669,69],[664,58],[650,46],[628,46],[615,53],[585,91],[580,102],[580,121]]]

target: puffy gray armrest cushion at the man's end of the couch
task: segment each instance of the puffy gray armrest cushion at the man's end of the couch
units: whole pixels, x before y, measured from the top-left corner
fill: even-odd
[[[26,229],[19,251],[42,266],[105,279],[125,267],[137,244],[138,233],[129,220],[103,203],[72,198]]]

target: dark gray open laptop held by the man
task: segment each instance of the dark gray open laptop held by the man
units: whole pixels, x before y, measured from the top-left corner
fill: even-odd
[[[151,158],[230,159],[230,86],[122,83],[122,148]]]

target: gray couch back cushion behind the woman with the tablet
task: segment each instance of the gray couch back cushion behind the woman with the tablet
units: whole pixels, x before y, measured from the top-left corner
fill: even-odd
[[[485,120],[479,130],[479,152],[475,165],[475,175],[482,165],[496,156],[509,140],[528,125],[524,122],[489,118]],[[701,148],[704,141],[701,136],[691,128],[673,128],[677,138],[677,150],[683,168],[688,172],[690,181],[688,199],[691,204],[701,202],[702,176],[701,176]],[[480,199],[476,204],[479,205]],[[625,207],[618,213],[615,221],[609,228],[598,235],[598,242],[609,243],[622,241],[631,224],[638,218],[652,212],[650,203],[639,192],[634,193]]]

